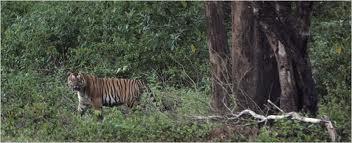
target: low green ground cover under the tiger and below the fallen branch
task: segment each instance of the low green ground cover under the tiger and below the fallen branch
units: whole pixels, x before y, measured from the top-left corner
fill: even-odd
[[[125,115],[122,107],[104,107],[104,121],[97,122],[91,110],[77,114],[77,97],[63,70],[53,75],[12,72],[3,74],[1,83],[1,141],[329,141],[321,125],[292,120],[264,126],[248,119],[227,124],[192,120],[212,114],[209,91],[194,88],[152,85],[157,106],[144,96],[144,108]],[[344,127],[350,119],[321,106],[324,114],[336,121],[339,140],[350,140]]]

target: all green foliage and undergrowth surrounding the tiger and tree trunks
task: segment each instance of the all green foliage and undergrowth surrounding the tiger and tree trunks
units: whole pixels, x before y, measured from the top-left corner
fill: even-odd
[[[339,141],[351,140],[350,13],[350,2],[316,3],[311,27],[318,116]],[[189,118],[211,114],[205,26],[202,2],[1,2],[2,141],[248,141],[213,139],[219,124]],[[80,117],[71,70],[145,78],[159,106]],[[255,140],[329,139],[321,125],[283,120]]]

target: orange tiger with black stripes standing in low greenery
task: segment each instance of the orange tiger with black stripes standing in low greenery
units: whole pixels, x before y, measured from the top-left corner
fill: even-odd
[[[98,118],[103,119],[103,106],[126,105],[132,108],[138,104],[144,92],[151,92],[142,80],[99,78],[93,75],[69,73],[68,86],[77,93],[77,110],[82,116],[89,107],[93,107]],[[153,95],[151,94],[153,97]]]

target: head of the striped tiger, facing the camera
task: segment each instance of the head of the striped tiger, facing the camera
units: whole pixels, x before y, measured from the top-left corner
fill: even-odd
[[[67,78],[67,84],[73,91],[82,91],[87,85],[82,73],[70,73]]]

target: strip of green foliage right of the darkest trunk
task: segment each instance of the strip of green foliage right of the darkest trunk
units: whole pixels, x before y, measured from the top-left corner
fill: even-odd
[[[342,141],[351,140],[351,17],[349,2],[316,5],[310,48],[321,95],[319,112],[335,122]],[[335,9],[328,12],[324,9]]]

